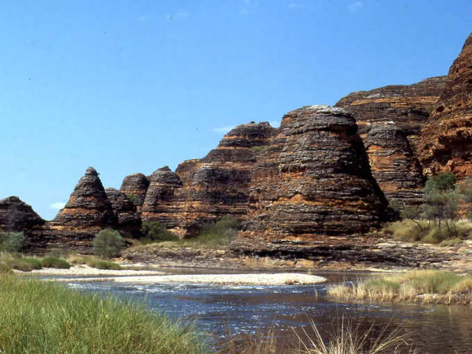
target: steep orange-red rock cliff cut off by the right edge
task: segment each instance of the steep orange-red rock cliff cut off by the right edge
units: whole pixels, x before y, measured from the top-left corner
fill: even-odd
[[[425,174],[472,176],[472,33],[449,69],[446,87],[423,128],[420,162]]]

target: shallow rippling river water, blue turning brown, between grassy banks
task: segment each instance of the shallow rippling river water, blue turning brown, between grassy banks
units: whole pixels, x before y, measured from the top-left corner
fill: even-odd
[[[180,271],[180,273],[184,273]],[[202,272],[203,273],[203,272]],[[324,296],[326,287],[356,280],[362,273],[316,273],[328,278],[321,285],[221,286],[196,284],[143,285],[87,282],[70,287],[90,292],[112,293],[144,301],[152,310],[172,318],[196,321],[199,330],[215,338],[231,333],[267,333],[270,328],[284,346],[296,338],[294,330],[310,331],[310,319],[321,331],[331,330],[344,317],[381,328],[401,326],[409,333],[419,353],[472,353],[472,310],[466,306],[391,305],[335,302]],[[283,344],[285,343],[285,344]]]

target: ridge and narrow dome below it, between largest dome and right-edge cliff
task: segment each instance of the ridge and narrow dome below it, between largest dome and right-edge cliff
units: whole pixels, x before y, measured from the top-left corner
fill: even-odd
[[[372,175],[389,201],[421,203],[424,178],[417,145],[445,85],[446,76],[439,76],[354,92],[336,103],[355,117]]]

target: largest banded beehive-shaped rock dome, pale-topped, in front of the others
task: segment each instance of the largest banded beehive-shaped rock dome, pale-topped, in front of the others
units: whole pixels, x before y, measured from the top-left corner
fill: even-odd
[[[341,108],[287,113],[252,177],[248,221],[235,248],[247,241],[246,249],[283,239],[323,242],[388,219],[355,119]]]

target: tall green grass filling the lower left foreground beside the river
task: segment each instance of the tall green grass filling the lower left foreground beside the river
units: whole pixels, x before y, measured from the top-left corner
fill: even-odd
[[[142,305],[0,275],[0,353],[205,353],[194,328]]]

